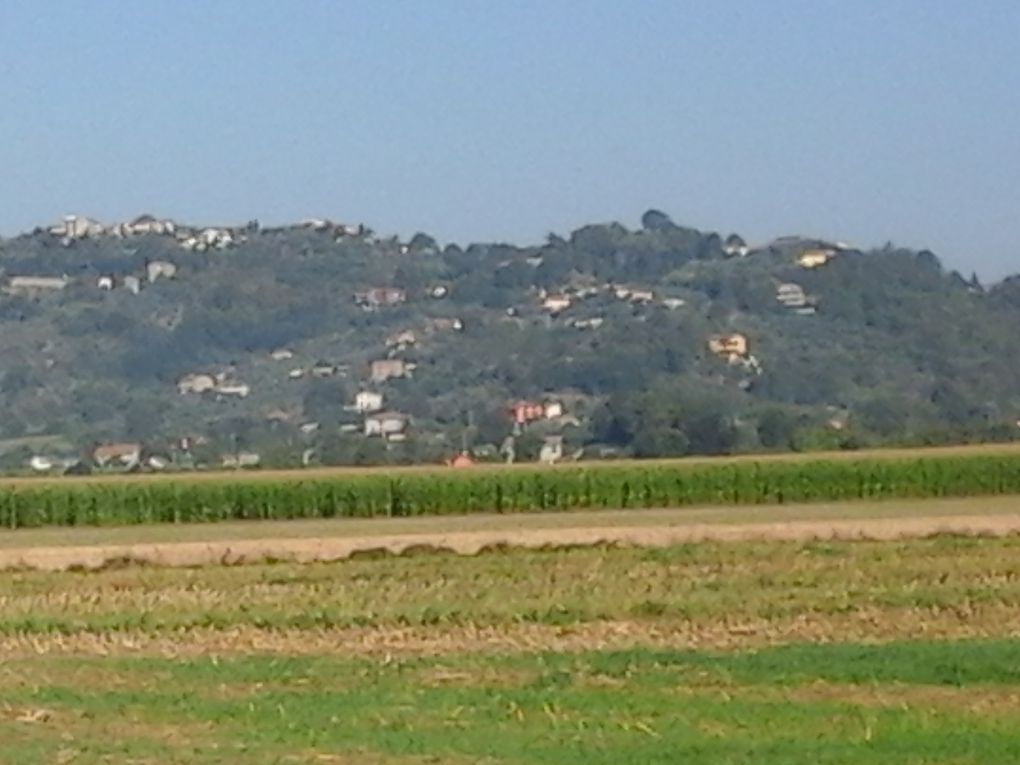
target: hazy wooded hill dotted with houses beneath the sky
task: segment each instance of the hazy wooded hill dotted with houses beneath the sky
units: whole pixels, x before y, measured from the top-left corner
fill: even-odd
[[[7,469],[108,442],[216,464],[496,459],[513,434],[518,460],[854,448],[1020,416],[1020,280],[657,211],[466,248],[71,217],[0,240],[0,269]]]

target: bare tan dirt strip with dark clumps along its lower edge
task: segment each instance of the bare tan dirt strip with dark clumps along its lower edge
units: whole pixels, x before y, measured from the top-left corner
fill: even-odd
[[[562,517],[562,516],[561,516]],[[636,518],[635,518],[636,519]],[[526,518],[520,519],[526,523]],[[577,520],[577,518],[575,518]],[[575,525],[517,527],[414,533],[372,533],[321,538],[277,538],[124,545],[53,546],[0,549],[0,569],[59,571],[97,568],[133,561],[159,566],[335,561],[356,553],[402,554],[414,549],[475,555],[487,548],[545,548],[615,544],[666,547],[702,541],[746,540],[897,540],[933,533],[1006,536],[1020,533],[1020,514],[933,515],[850,519],[771,520],[756,523],[684,523],[670,525]]]

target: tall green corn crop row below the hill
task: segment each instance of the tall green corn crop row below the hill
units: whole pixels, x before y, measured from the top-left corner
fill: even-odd
[[[1020,494],[1020,457],[952,456],[534,470],[443,470],[278,480],[24,483],[0,524],[30,526],[522,513]]]

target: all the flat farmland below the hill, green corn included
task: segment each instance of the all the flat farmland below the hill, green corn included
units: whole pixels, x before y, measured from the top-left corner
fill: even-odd
[[[1016,761],[1018,481],[1009,449],[10,481],[0,762]]]

